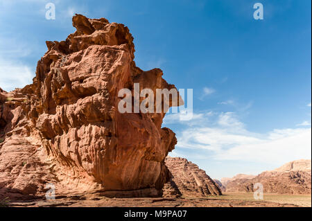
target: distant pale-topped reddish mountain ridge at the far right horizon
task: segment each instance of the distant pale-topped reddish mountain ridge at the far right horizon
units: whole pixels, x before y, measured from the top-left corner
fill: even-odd
[[[311,194],[311,160],[286,163],[271,171],[265,171],[252,179],[239,178],[226,185],[228,193],[254,191],[254,184],[261,183],[264,193]]]

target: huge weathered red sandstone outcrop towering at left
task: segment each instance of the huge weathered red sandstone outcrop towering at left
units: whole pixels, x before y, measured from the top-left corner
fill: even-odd
[[[57,194],[161,194],[175,134],[161,127],[164,112],[121,114],[118,92],[174,85],[136,67],[123,24],[76,15],[73,26],[66,41],[46,42],[32,85],[0,91],[0,194],[43,195],[47,183]]]

